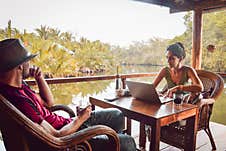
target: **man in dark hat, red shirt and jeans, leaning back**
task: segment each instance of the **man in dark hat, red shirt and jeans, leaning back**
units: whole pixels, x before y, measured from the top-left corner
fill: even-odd
[[[33,122],[41,125],[56,137],[72,134],[87,126],[102,124],[114,129],[120,139],[121,151],[134,151],[136,145],[129,135],[120,134],[124,116],[117,109],[91,111],[87,107],[74,119],[64,118],[49,111],[53,95],[39,67],[30,67],[29,60],[37,56],[31,54],[19,39],[0,41],[0,93]],[[23,80],[33,77],[39,88],[39,95]],[[92,114],[91,114],[92,113]],[[108,150],[108,138],[98,136],[90,140],[93,150]]]

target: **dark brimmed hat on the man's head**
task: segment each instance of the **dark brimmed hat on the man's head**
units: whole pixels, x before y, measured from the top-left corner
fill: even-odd
[[[19,39],[0,41],[0,72],[9,71],[37,56],[31,54]]]

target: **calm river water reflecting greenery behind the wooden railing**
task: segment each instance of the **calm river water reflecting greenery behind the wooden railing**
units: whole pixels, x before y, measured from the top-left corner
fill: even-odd
[[[120,74],[129,73],[147,73],[157,72],[160,66],[122,66],[119,70]],[[149,81],[151,82],[154,77],[149,78],[135,78],[136,81]],[[225,79],[226,80],[226,79]],[[164,85],[164,82],[160,84],[159,89]],[[51,85],[51,90],[54,94],[55,103],[58,104],[71,104],[72,95],[79,95],[79,97],[87,98],[87,96],[96,95],[107,89],[114,89],[114,80],[105,81],[91,81],[91,82],[78,82],[73,84],[57,84]],[[222,95],[217,99],[213,107],[213,113],[211,121],[226,125],[226,89],[224,89]]]

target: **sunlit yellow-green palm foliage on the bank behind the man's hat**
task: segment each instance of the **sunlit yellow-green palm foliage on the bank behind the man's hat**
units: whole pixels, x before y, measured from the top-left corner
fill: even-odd
[[[54,77],[75,76],[86,68],[92,72],[110,70],[114,56],[108,44],[81,38],[76,41],[69,32],[61,32],[48,26],[36,28],[37,33],[20,32],[12,28],[11,20],[5,29],[0,29],[0,39],[20,38],[24,45],[39,55],[32,60],[43,72]]]

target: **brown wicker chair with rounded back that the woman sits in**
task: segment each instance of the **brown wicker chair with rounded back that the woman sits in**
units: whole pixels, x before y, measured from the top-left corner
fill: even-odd
[[[212,114],[213,104],[224,89],[224,81],[218,74],[210,71],[197,70],[197,73],[203,83],[204,91],[209,92],[208,97],[201,99],[197,104],[199,106],[198,131],[204,130],[206,132],[210,139],[212,150],[216,150],[216,145],[209,127],[209,121]],[[141,133],[145,135],[142,137],[146,137],[144,124],[141,123],[140,128]],[[192,141],[192,137],[189,135],[189,130],[189,123],[185,126],[179,126],[178,123],[164,126],[161,128],[161,141],[187,150]]]

